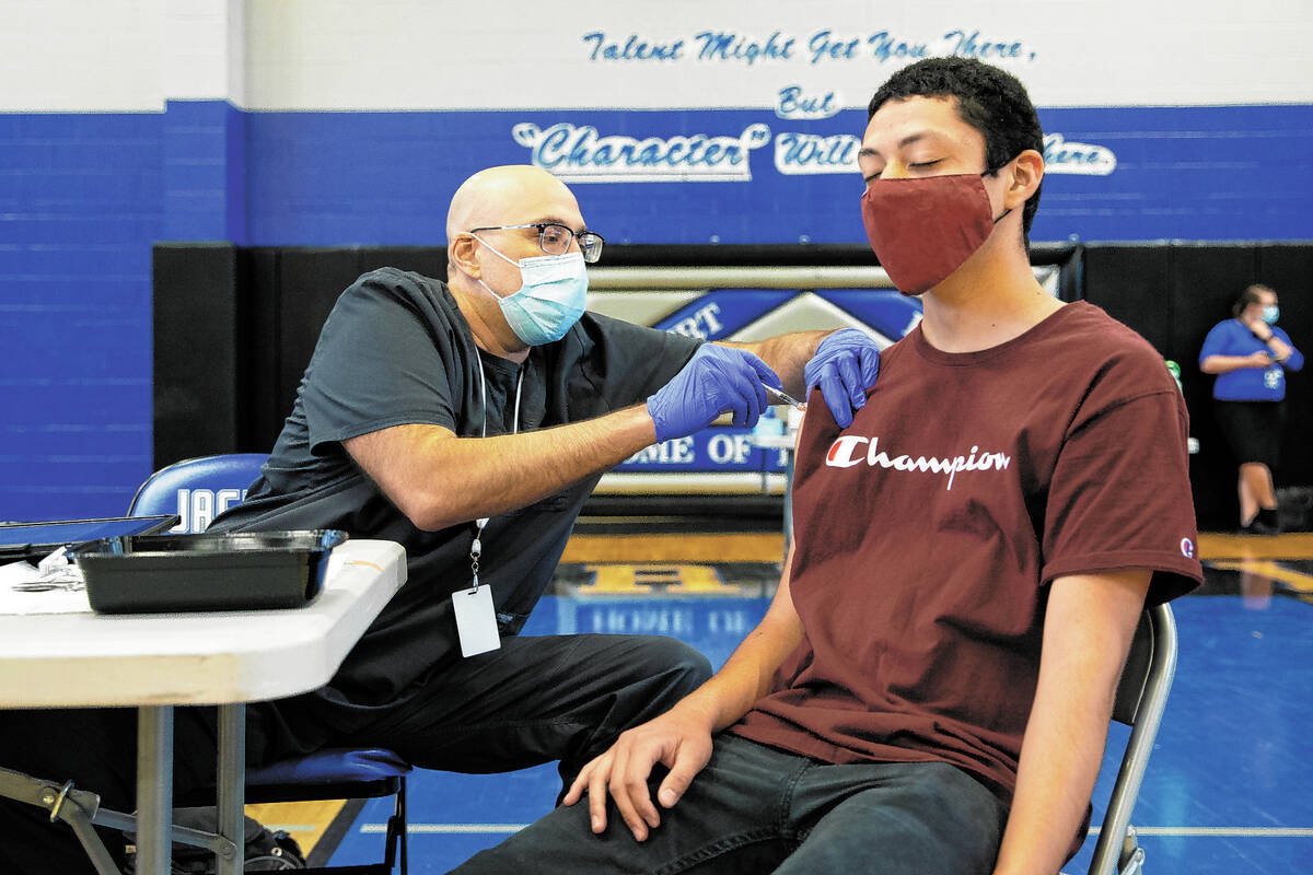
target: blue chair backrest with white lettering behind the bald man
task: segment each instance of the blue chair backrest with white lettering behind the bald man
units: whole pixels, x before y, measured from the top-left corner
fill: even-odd
[[[230,453],[175,462],[142,484],[127,516],[176,513],[181,522],[171,531],[205,531],[217,516],[242,504],[268,458],[263,453]]]

